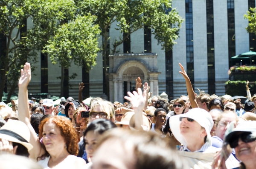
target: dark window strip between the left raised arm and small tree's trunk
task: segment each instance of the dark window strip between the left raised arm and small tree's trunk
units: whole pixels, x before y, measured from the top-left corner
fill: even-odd
[[[48,93],[48,62],[47,54],[41,52],[41,93]]]

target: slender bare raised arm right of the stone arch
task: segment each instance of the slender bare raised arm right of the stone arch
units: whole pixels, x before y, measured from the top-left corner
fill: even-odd
[[[189,76],[187,75],[183,66],[180,63],[179,63],[179,65],[180,65],[180,69],[181,69],[180,74],[182,74],[184,79],[186,80],[186,88],[187,88],[187,92],[189,94],[189,101],[191,103],[191,107],[192,108],[197,108],[198,104],[197,104],[196,99],[195,99],[195,92],[194,92],[193,87],[191,85]]]

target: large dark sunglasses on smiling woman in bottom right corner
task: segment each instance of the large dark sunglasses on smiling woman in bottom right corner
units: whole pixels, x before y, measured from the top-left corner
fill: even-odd
[[[244,132],[240,135],[234,135],[232,138],[230,138],[230,147],[236,148],[238,146],[239,138],[241,138],[241,141],[244,143],[250,143],[256,140],[256,135],[251,134],[251,132]]]

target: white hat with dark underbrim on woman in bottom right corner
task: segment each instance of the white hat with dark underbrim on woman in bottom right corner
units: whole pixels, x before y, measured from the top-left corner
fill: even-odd
[[[236,128],[233,128],[226,136],[225,142],[229,143],[233,135],[238,132],[251,132],[252,134],[256,134],[256,121],[240,121]]]

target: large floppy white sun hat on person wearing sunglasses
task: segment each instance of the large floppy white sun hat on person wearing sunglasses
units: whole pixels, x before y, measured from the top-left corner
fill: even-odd
[[[175,136],[177,141],[187,146],[187,142],[185,138],[183,137],[183,135],[180,134],[180,123],[181,123],[180,117],[192,118],[193,120],[198,122],[198,124],[200,124],[202,127],[204,127],[204,129],[207,132],[206,141],[209,142],[210,145],[212,145],[210,131],[212,130],[212,127],[213,127],[213,120],[209,112],[207,112],[204,109],[194,108],[189,110],[185,114],[173,115],[170,117],[169,124],[172,130],[172,134]]]

